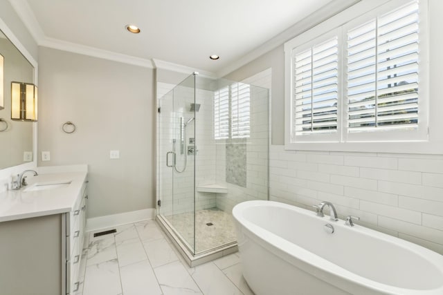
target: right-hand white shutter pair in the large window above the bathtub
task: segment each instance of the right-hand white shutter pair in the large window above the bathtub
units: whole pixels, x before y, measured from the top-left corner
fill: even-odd
[[[417,128],[418,55],[417,1],[348,31],[348,132]]]

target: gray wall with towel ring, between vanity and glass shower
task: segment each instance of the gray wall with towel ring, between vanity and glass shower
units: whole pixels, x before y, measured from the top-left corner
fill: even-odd
[[[153,70],[40,47],[39,81],[38,165],[89,164],[89,218],[154,208]]]

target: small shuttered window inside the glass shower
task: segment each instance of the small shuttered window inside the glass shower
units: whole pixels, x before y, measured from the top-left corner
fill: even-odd
[[[214,92],[214,138],[248,138],[251,133],[251,87],[234,83]]]

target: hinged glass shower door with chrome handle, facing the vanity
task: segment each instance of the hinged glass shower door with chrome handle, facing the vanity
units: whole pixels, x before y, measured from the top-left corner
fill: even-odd
[[[191,75],[159,100],[159,215],[195,253],[195,76]],[[164,160],[162,160],[164,159]]]

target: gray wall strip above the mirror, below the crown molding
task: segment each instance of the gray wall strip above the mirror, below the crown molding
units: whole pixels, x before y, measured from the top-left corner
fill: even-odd
[[[15,12],[14,8],[12,8],[11,4],[7,0],[0,0],[0,19],[2,19],[8,28],[12,30],[15,37],[17,37],[21,44],[25,46],[30,55],[37,60],[39,54],[37,42],[35,42],[32,35],[30,35],[30,32],[24,23],[21,22],[21,19],[19,19],[19,16]]]

